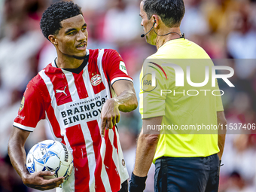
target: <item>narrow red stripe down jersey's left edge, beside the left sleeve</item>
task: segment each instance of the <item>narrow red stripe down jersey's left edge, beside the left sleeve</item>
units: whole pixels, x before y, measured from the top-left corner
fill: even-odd
[[[56,119],[56,116],[54,114],[53,106],[51,105],[50,93],[47,90],[46,84],[42,84],[40,86],[40,88],[41,88],[41,91],[46,96],[44,103],[46,104],[45,108],[47,109],[46,112],[47,112],[48,120],[50,121],[50,124],[53,127],[54,136],[56,136],[56,138],[62,139],[62,143],[64,145],[66,145],[66,142],[64,141],[64,137],[61,135],[61,132],[60,132],[61,129],[60,129],[60,126],[59,126],[59,122]]]

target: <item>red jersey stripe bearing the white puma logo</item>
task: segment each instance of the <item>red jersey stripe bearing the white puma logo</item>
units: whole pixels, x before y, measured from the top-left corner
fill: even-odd
[[[67,102],[72,102],[72,97],[69,93],[69,84],[62,70],[47,67],[44,72],[53,84],[57,105],[59,106]]]

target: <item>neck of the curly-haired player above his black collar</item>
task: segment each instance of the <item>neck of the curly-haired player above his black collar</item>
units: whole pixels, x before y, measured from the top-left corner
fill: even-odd
[[[83,63],[84,59],[75,59],[72,56],[58,56],[56,65],[61,69],[77,69]]]

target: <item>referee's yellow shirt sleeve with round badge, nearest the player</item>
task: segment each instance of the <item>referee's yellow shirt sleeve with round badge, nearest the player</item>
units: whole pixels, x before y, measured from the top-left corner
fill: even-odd
[[[159,65],[144,63],[140,74],[139,112],[142,119],[165,115],[167,82]],[[155,77],[155,78],[154,78]]]

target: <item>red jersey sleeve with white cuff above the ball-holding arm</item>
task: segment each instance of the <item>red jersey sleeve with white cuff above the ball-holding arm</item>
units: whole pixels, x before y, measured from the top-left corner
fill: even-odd
[[[14,126],[29,132],[34,131],[38,121],[45,118],[43,99],[32,81],[26,87]]]

